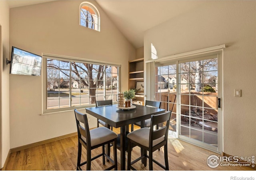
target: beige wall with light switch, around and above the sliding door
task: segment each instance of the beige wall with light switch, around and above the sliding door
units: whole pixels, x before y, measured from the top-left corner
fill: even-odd
[[[145,60],[151,43],[158,58],[226,44],[223,59],[223,152],[256,153],[256,1],[212,1],[160,24],[144,35]],[[147,85],[148,86],[148,85]],[[234,97],[234,89],[242,97]]]

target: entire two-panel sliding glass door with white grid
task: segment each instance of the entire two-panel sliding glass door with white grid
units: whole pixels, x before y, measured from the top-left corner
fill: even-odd
[[[172,111],[170,132],[193,144],[219,151],[220,54],[156,63],[155,100]]]

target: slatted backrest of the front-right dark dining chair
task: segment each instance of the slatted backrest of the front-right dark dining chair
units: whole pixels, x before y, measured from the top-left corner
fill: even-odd
[[[150,122],[150,144],[149,146],[152,147],[153,140],[158,139],[164,136],[164,140],[168,139],[168,130],[171,118],[171,111],[164,112],[162,114],[152,115],[151,122]],[[157,124],[163,124],[163,127],[154,130],[154,126]],[[160,127],[160,126],[159,126]]]

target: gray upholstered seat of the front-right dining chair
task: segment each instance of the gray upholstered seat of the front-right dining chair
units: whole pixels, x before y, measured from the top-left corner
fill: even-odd
[[[149,147],[149,133],[150,133],[150,128],[141,128],[136,131],[130,132],[127,135],[127,138],[130,138],[131,140],[138,142],[142,146]],[[153,146],[156,144],[159,144],[164,140],[164,136],[153,140]]]

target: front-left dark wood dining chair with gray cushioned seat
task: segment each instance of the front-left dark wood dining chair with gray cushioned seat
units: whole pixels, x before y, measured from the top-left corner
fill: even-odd
[[[113,132],[112,130],[106,127],[99,127],[90,130],[88,125],[88,119],[86,114],[82,114],[75,111],[76,117],[76,126],[78,132],[78,158],[77,158],[77,167],[76,170],[82,170],[81,166],[87,164],[86,170],[91,170],[91,162],[96,158],[102,156],[102,164],[105,164],[105,157],[109,160],[113,165],[107,168],[106,170],[117,170],[117,147],[116,147],[116,140],[118,135]],[[109,155],[105,154],[105,145],[106,144],[113,144],[113,154],[114,160],[110,158]],[[81,163],[81,156],[82,156],[82,145],[86,148],[86,161]],[[98,154],[97,156],[92,157],[92,150],[102,146],[102,153]]]

